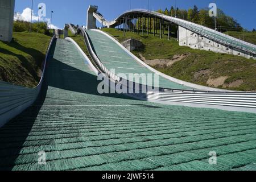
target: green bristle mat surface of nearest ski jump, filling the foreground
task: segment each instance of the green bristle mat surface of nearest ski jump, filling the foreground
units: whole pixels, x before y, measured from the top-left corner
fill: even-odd
[[[50,55],[38,100],[0,129],[0,169],[256,169],[256,114],[99,95],[72,43],[57,39]]]

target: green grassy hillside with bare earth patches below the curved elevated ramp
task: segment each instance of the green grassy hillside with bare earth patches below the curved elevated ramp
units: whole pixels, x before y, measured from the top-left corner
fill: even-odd
[[[175,38],[167,40],[166,35],[164,35],[162,39],[159,39],[159,35],[154,37],[153,35],[144,34],[142,36],[133,32],[126,32],[126,36],[123,36],[122,31],[113,28],[104,28],[104,31],[114,36],[119,42],[123,42],[129,38],[140,40],[143,43],[143,47],[139,51],[133,51],[133,53],[138,57],[139,53],[141,53],[147,60],[172,59],[175,55],[189,53],[187,57],[177,61],[171,67],[163,68],[159,65],[154,67],[166,75],[205,86],[209,86],[207,84],[209,78],[229,76],[225,84],[230,84],[236,80],[243,80],[243,84],[234,88],[225,87],[224,84],[219,86],[219,88],[256,91],[255,60],[224,53],[181,47]],[[208,70],[209,74],[195,77],[195,73],[202,70]]]

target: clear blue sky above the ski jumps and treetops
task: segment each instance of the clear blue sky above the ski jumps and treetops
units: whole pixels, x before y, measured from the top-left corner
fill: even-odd
[[[22,13],[27,7],[31,8],[32,0],[16,0],[15,12]],[[233,16],[247,30],[256,28],[256,0],[176,0],[179,9],[188,9],[197,5],[199,8],[208,7],[210,2],[215,2],[217,7]],[[119,14],[130,9],[130,1],[121,0],[34,0],[34,13],[39,3],[46,4],[47,16],[51,17],[51,10],[54,11],[52,23],[57,27],[64,27],[65,23],[79,25],[86,24],[86,11],[89,5],[97,5],[99,11],[108,20],[113,20]],[[174,5],[174,0],[150,0],[150,9],[158,10],[170,9]],[[131,0],[131,9],[148,9],[148,0]]]

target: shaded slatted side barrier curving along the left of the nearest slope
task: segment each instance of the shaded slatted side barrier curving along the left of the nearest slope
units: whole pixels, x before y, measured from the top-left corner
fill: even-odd
[[[10,119],[22,113],[27,107],[31,106],[42,88],[44,74],[46,72],[46,63],[49,50],[56,36],[54,35],[48,46],[46,59],[43,64],[43,73],[39,84],[35,88],[25,88],[8,82],[0,81],[0,127],[5,125]]]

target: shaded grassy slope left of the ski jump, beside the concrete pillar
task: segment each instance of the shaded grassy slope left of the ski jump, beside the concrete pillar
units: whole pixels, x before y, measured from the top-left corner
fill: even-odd
[[[0,80],[34,87],[42,73],[51,36],[14,32],[11,43],[0,42]]]

